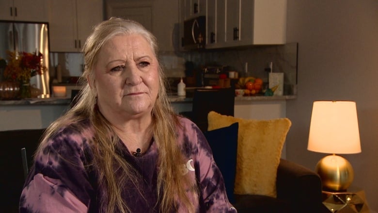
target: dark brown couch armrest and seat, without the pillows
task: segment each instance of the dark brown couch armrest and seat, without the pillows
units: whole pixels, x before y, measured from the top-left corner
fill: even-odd
[[[238,213],[320,213],[321,181],[316,173],[281,159],[277,170],[277,197],[235,195]]]

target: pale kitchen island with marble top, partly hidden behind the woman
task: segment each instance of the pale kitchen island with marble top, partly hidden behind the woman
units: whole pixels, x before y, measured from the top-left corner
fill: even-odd
[[[235,98],[235,117],[273,119],[286,116],[286,100],[296,96]],[[192,98],[169,96],[176,113],[191,111]],[[0,100],[0,131],[46,128],[70,107],[70,98]]]

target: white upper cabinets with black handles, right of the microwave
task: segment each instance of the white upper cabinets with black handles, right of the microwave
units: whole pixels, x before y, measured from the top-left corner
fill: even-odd
[[[287,0],[207,0],[206,48],[284,44],[286,4]],[[215,41],[210,38],[214,29]]]

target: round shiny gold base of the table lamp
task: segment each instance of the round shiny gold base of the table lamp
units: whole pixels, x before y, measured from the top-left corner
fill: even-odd
[[[346,191],[354,178],[352,165],[335,154],[322,158],[316,164],[315,171],[322,180],[324,190]]]

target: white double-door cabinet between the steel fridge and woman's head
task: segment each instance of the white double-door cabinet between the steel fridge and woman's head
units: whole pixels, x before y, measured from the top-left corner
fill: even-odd
[[[49,2],[51,52],[80,52],[93,27],[104,20],[102,0]]]

